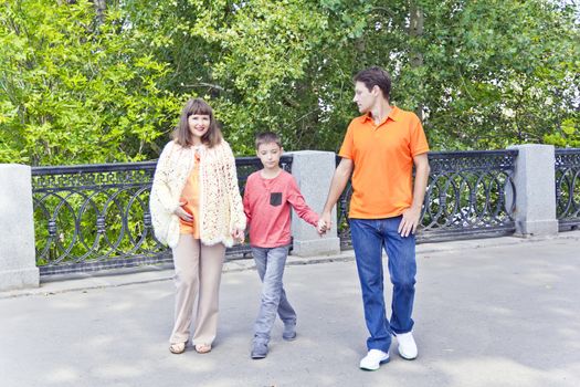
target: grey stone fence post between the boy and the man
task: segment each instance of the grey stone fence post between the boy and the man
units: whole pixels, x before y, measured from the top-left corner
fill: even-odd
[[[292,175],[306,203],[320,213],[336,168],[335,154],[333,151],[297,150],[292,151]],[[293,213],[293,254],[308,257],[339,253],[340,239],[336,231],[336,207],[333,209],[333,219],[335,221],[330,232],[319,237],[313,226]]]

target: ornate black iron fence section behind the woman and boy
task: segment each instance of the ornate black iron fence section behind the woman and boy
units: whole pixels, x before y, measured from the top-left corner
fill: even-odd
[[[282,157],[292,168],[292,156]],[[155,238],[149,191],[156,161],[32,168],[36,264],[41,275],[171,261]],[[256,157],[236,158],[243,194]],[[228,259],[249,253],[229,249]]]

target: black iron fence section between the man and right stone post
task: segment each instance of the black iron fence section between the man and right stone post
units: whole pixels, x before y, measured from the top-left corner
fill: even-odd
[[[517,150],[432,151],[431,175],[418,241],[514,233],[514,168]],[[340,158],[337,157],[337,163]],[[338,203],[338,231],[350,243],[351,187]]]

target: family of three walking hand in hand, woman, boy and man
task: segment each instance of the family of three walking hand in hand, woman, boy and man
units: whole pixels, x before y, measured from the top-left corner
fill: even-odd
[[[293,176],[280,167],[282,142],[272,132],[256,136],[263,168],[247,178],[242,198],[235,159],[212,108],[200,98],[186,104],[172,140],[159,157],[150,196],[155,234],[173,253],[171,353],[183,353],[190,339],[198,353],[212,349],[225,248],[243,242],[246,230],[263,283],[250,356],[267,356],[276,315],[284,324],[283,338],[295,339],[297,316],[283,285],[291,207],[324,234],[331,229],[331,209],[351,179],[349,224],[370,334],[359,366],[375,370],[388,362],[392,336],[401,357],[418,356],[412,335],[414,232],[429,177],[429,145],[416,115],[390,105],[386,71],[370,67],[354,81],[354,102],[361,116],[348,126],[320,216],[306,205]],[[383,249],[393,284],[390,318],[383,296]]]

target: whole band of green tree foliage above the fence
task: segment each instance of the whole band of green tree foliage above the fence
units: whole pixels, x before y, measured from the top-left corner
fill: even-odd
[[[392,103],[422,113],[434,149],[580,146],[573,2],[102,3],[1,3],[0,161],[156,158],[190,96],[239,154],[265,129],[336,150],[369,65],[392,73]]]

